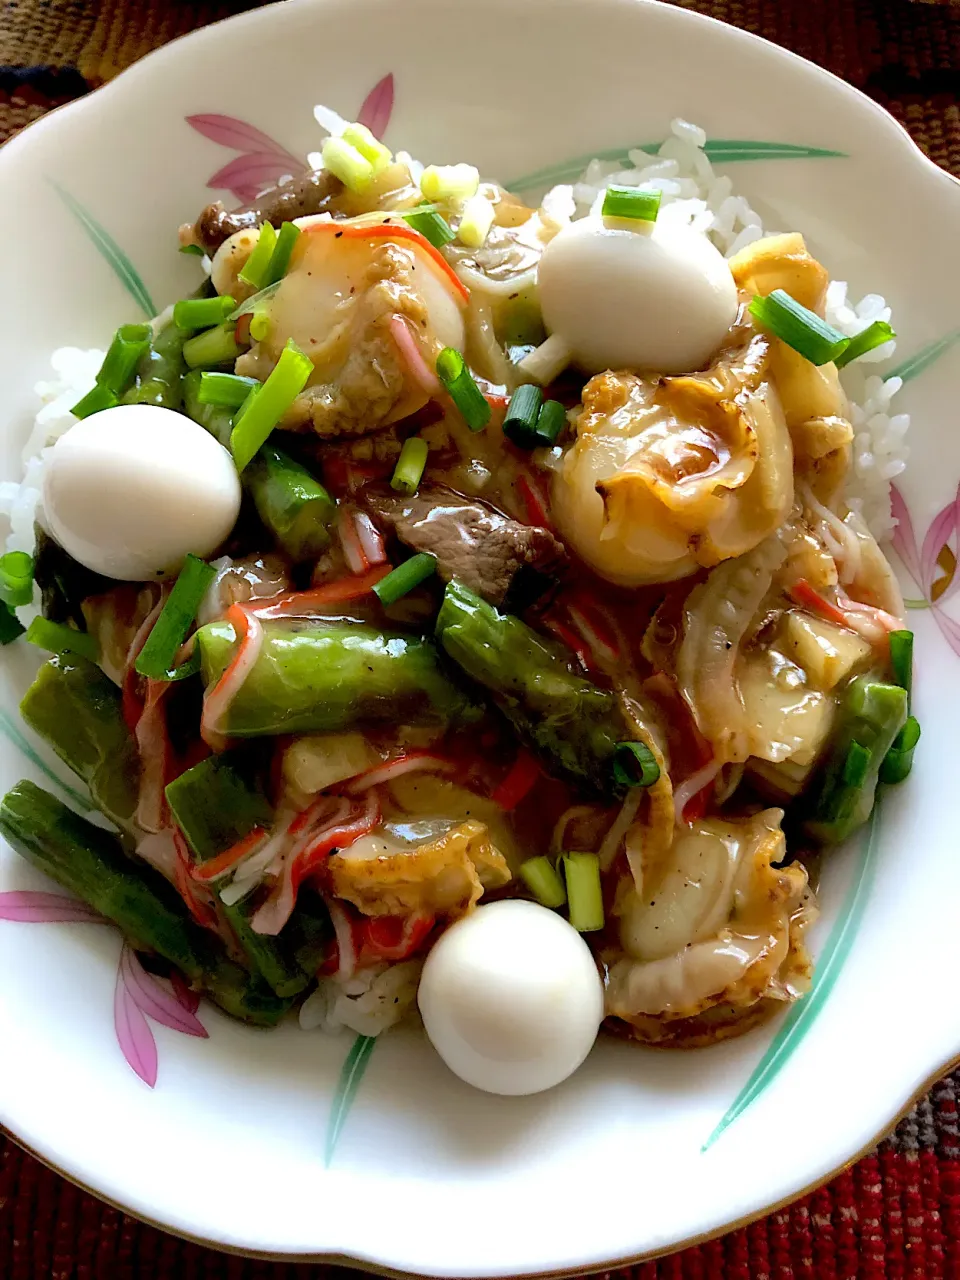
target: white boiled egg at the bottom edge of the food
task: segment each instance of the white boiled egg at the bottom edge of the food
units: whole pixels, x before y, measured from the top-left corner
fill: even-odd
[[[481,906],[440,937],[419,1001],[447,1066],[502,1094],[566,1080],[603,1018],[603,984],[584,940],[554,911],[517,899]]]

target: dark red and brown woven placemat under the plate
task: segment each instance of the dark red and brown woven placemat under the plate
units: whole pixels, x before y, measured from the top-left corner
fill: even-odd
[[[765,36],[842,76],[886,106],[933,160],[960,177],[956,3],[678,3]],[[244,0],[0,0],[0,141],[157,45],[250,8],[256,5]],[[959,1094],[960,1073],[941,1080],[878,1149],[790,1208],[617,1275],[960,1280]],[[0,1280],[349,1275],[338,1267],[253,1262],[177,1240],[101,1204],[0,1134]]]

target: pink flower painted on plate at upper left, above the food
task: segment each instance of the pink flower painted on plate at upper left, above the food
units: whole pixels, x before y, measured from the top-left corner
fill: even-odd
[[[357,120],[378,138],[383,137],[393,113],[393,74],[384,76],[370,90],[360,108]],[[202,114],[186,116],[187,124],[218,146],[237,151],[238,155],[218,169],[207,187],[229,191],[242,204],[256,200],[261,191],[276,186],[284,178],[306,172],[303,160],[282,147],[279,142],[234,115]]]

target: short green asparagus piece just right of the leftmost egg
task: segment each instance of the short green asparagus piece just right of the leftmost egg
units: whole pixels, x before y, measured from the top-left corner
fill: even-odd
[[[323,554],[337,503],[306,467],[265,444],[243,479],[260,518],[294,563]]]

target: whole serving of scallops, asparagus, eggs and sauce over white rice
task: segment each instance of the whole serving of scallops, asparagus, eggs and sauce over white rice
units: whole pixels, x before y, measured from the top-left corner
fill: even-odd
[[[481,1088],[557,1083],[602,1015],[740,1034],[809,984],[803,852],[919,736],[890,308],[689,122],[532,209],[317,120],[311,173],[184,224],[195,297],[37,385],[0,621],[116,836],[26,782],[0,831],[250,1021],[375,1036],[425,966]],[[84,444],[161,411],[163,466]]]

